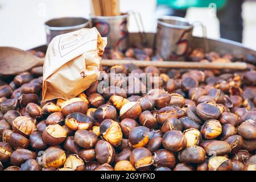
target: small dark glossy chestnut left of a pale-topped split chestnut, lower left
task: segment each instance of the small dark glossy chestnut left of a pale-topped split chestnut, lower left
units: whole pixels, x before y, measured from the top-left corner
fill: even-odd
[[[48,145],[44,143],[42,133],[39,131],[34,131],[30,135],[30,146],[34,150],[45,150]]]

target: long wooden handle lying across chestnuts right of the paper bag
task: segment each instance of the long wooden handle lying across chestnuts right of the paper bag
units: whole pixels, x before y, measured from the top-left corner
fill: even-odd
[[[184,68],[184,69],[247,69],[246,63],[198,63],[182,61],[137,61],[137,60],[101,60],[101,65],[113,66],[118,64],[133,63],[138,67],[155,66],[160,68]]]

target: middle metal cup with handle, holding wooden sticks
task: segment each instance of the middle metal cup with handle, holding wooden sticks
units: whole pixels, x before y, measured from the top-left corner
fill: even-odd
[[[139,32],[142,34],[142,42],[146,42],[146,34],[141,20],[141,15],[137,12],[130,11],[119,16],[94,16],[90,15],[92,26],[96,27],[101,36],[108,37],[108,44],[105,51],[110,49],[118,49],[125,51],[129,47],[129,18],[134,15]],[[139,18],[138,18],[138,17]]]

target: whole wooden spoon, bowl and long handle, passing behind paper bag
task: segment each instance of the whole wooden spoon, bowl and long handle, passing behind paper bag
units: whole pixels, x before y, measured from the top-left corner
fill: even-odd
[[[133,63],[138,67],[155,66],[162,68],[184,69],[247,69],[247,64],[236,63],[198,63],[181,61],[137,61],[137,60],[101,60],[101,65],[112,66]],[[44,58],[13,47],[0,47],[0,75],[17,75],[44,64]]]

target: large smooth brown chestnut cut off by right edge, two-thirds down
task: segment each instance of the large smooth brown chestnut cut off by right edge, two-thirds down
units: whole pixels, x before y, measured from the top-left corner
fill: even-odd
[[[247,140],[256,139],[256,122],[250,119],[241,123],[238,126],[237,133]]]

